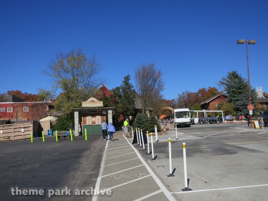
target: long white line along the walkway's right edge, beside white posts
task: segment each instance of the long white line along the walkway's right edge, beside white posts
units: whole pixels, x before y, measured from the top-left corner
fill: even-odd
[[[140,158],[140,160],[142,161],[142,163],[144,164],[144,166],[146,167],[146,169],[148,170],[148,172],[152,175],[152,178],[154,178],[155,182],[158,184],[158,186],[163,191],[163,193],[165,194],[165,196],[170,201],[176,201],[176,199],[173,197],[173,195],[170,194],[170,192],[168,191],[168,189],[166,189],[166,187],[162,184],[162,182],[159,180],[159,178],[155,175],[155,173],[151,170],[151,168],[148,166],[148,164],[144,161],[143,157],[140,155],[140,152],[130,142],[128,142],[128,143],[134,149],[134,151],[136,152],[137,156]]]

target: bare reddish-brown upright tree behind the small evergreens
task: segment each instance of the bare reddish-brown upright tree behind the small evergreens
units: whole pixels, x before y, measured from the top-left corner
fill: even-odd
[[[134,69],[137,98],[141,103],[142,113],[146,113],[148,108],[154,108],[162,99],[161,92],[165,89],[163,72],[157,69],[154,62],[141,62]]]

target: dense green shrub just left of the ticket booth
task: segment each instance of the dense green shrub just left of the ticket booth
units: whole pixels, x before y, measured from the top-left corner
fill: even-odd
[[[73,129],[75,129],[75,115],[74,112],[70,112],[67,114],[62,114],[56,121],[55,124],[52,125],[52,131],[68,131],[70,122],[73,124]]]

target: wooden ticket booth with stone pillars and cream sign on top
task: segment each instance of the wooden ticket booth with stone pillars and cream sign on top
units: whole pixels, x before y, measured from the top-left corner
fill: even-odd
[[[101,134],[103,120],[106,121],[107,125],[112,123],[114,107],[103,107],[102,101],[90,98],[82,102],[82,108],[73,108],[72,110],[75,113],[74,134],[77,136],[84,135],[85,129],[87,129],[87,134]]]

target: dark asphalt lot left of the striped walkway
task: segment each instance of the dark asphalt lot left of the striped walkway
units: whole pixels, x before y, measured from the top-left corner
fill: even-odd
[[[74,136],[73,141],[48,137],[0,142],[1,200],[91,200],[75,189],[95,187],[106,141],[101,134]],[[44,195],[12,195],[11,189],[40,189]],[[52,195],[48,189],[71,189],[71,195]],[[16,192],[15,192],[16,193]]]

